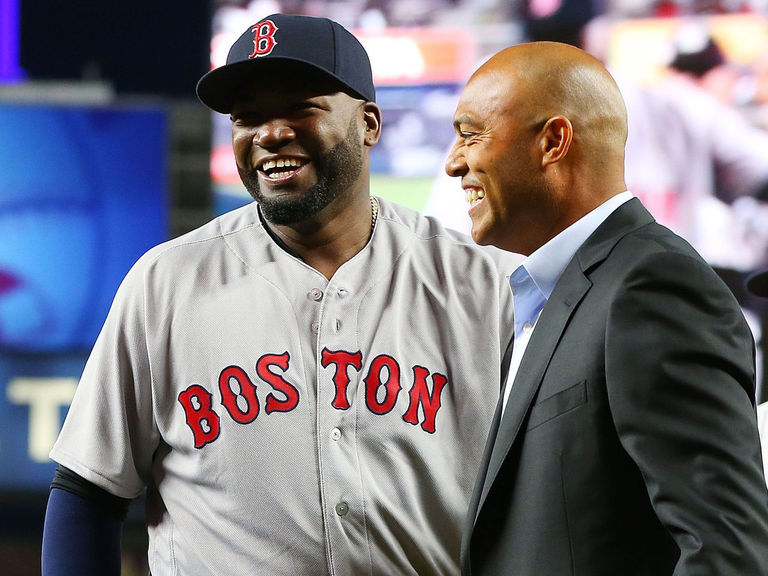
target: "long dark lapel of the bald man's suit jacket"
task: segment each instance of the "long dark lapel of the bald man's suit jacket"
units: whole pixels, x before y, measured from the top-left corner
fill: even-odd
[[[515,376],[504,416],[490,450],[477,508],[472,511],[475,519],[504,459],[520,434],[563,330],[579,302],[589,291],[591,282],[587,274],[608,257],[620,238],[651,222],[653,217],[639,200],[633,198],[617,208],[595,230],[563,271],[536,323],[536,329],[531,335]]]

